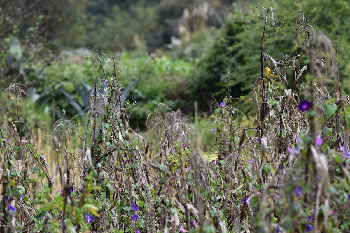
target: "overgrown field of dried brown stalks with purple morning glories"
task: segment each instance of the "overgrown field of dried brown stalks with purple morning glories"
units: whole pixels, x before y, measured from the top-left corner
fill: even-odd
[[[229,83],[237,74],[228,73],[205,132],[197,103],[191,120],[159,103],[144,119],[148,131],[134,130],[123,70],[97,52],[89,59],[102,75],[86,110],[69,118],[61,109],[56,119],[54,102],[49,132],[31,121],[28,93],[12,83],[0,106],[0,232],[350,232],[350,102],[337,41],[300,10],[300,54],[274,59],[265,36],[283,20],[279,9],[259,9],[261,74],[252,98],[239,100],[255,115],[236,108]]]

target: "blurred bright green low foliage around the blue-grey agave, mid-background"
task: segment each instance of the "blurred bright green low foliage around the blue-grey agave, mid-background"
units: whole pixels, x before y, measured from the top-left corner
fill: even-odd
[[[128,93],[125,99],[127,111],[132,112],[136,107],[130,119],[132,128],[139,126],[144,129],[150,113],[156,108],[164,111],[165,107],[157,107],[159,103],[164,103],[174,110],[188,108],[185,113],[189,113],[192,102],[188,98],[187,83],[193,73],[193,63],[181,59],[174,61],[165,56],[130,58],[127,53],[122,53],[116,58],[116,62],[117,70],[122,71],[119,76],[127,77],[120,80],[123,91],[125,88],[125,93]],[[111,71],[108,66],[105,68],[106,73]],[[84,101],[89,89],[86,87],[92,85],[94,78],[101,76],[102,70],[93,67],[88,58],[82,64],[69,61],[53,62],[42,71],[43,86],[35,89],[35,93],[41,93],[37,102],[51,104],[55,99],[56,106],[65,109],[68,117],[80,114],[82,112],[77,110],[78,108],[88,107]],[[105,81],[106,79],[103,79],[103,82]],[[132,87],[129,87],[133,82]],[[46,87],[46,83],[50,86]],[[106,85],[108,83],[104,84]]]

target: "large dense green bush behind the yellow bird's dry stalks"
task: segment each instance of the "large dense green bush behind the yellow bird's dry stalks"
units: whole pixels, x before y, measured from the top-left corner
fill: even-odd
[[[299,4],[299,3],[298,3]],[[318,10],[314,6],[320,4],[323,10]],[[266,28],[265,35],[265,50],[264,52],[271,55],[275,60],[281,60],[281,71],[287,77],[288,83],[284,83],[285,87],[288,84],[289,88],[294,88],[294,70],[292,64],[286,64],[285,54],[289,56],[297,56],[304,54],[306,43],[306,33],[302,29],[301,24],[295,25],[298,17],[300,17],[300,10],[296,7],[293,1],[284,1],[276,5],[274,2],[266,1],[266,6],[279,7],[283,14],[278,9],[274,9],[276,19],[280,20],[276,25],[280,26],[276,34],[272,31],[272,25]],[[307,1],[300,2],[300,7],[307,20],[311,23],[310,27],[316,28],[317,31],[323,32],[330,40],[338,40],[339,53],[339,76],[340,80],[347,83],[348,80],[348,50],[350,44],[348,34],[345,33],[346,28],[350,27],[350,21],[347,17],[347,1]],[[254,6],[255,8],[255,6]],[[231,88],[231,95],[239,98],[240,95],[247,95],[251,97],[251,86],[255,79],[260,75],[259,51],[261,35],[264,24],[261,22],[261,7],[255,9],[254,17],[252,18],[252,6],[248,6],[245,11],[235,9],[225,21],[225,27],[218,29],[216,32],[214,43],[208,47],[202,58],[197,62],[198,72],[191,79],[191,92],[194,98],[201,102],[202,108],[208,108],[208,102],[211,102],[211,95],[214,95],[219,100],[225,96],[223,89],[226,87],[226,77],[229,75],[229,87]],[[331,20],[324,20],[324,15],[327,15]],[[299,18],[300,19],[300,18]],[[257,28],[257,21],[260,20]],[[271,19],[268,19],[271,20]],[[284,20],[284,21],[283,21]],[[283,26],[280,25],[283,23]],[[339,25],[343,25],[339,27]],[[309,28],[312,31],[313,28]],[[296,34],[295,34],[296,32]],[[313,38],[317,37],[318,41],[323,41],[322,35],[315,34]],[[329,59],[335,57],[335,46],[330,42],[323,42],[324,44],[317,45],[315,50],[319,58],[325,59],[328,67],[334,64],[334,61]],[[335,43],[334,43],[335,44]],[[329,47],[328,47],[329,46]],[[333,46],[333,47],[332,47]],[[322,51],[324,53],[322,55]],[[329,52],[328,52],[329,51]],[[327,53],[329,55],[327,55]],[[297,58],[297,57],[296,57]],[[297,58],[296,66],[303,67],[307,65],[309,60]],[[272,64],[265,64],[272,70],[275,67]],[[285,67],[283,67],[285,66]],[[336,68],[336,67],[335,67]],[[337,74],[332,72],[323,73],[327,78],[327,83],[331,83]],[[290,77],[290,78],[288,78]],[[320,80],[321,82],[321,80]],[[348,92],[348,86],[344,85]],[[197,93],[204,93],[204,97],[198,96]],[[241,107],[248,108],[244,104]]]

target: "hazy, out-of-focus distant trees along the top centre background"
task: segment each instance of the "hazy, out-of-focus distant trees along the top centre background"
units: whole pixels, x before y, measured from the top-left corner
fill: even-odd
[[[178,23],[185,8],[198,2],[208,3],[219,17],[229,12],[230,3],[219,0],[85,0],[83,12],[57,39],[73,48],[92,47],[105,52],[135,49],[134,36],[144,40],[151,50],[170,43],[171,36],[179,36]],[[219,27],[216,19],[207,26]]]

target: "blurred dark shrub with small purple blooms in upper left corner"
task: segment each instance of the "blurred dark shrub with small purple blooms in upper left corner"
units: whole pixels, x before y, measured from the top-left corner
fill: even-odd
[[[48,57],[54,39],[76,15],[83,0],[2,1],[0,8],[0,75],[2,87],[16,81],[36,82],[30,75],[36,61]],[[36,83],[38,84],[38,83]]]

